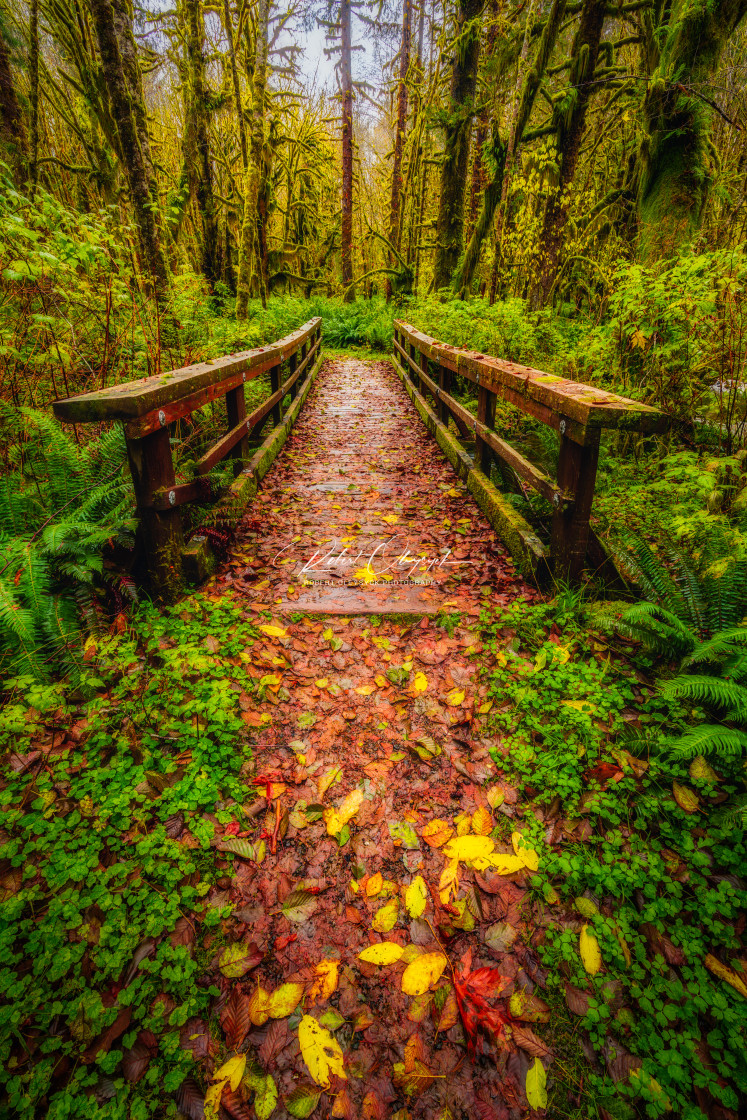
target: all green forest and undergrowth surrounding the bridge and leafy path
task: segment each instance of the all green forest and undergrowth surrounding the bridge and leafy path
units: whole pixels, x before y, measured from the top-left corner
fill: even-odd
[[[226,680],[260,641],[220,598],[170,615],[142,601],[122,430],[62,426],[52,402],[316,315],[327,354],[385,357],[399,317],[666,413],[662,436],[603,436],[592,523],[622,589],[589,576],[503,615],[486,603],[485,713],[542,852],[533,903],[585,923],[582,964],[577,925],[548,935],[552,1017],[527,1017],[552,1019],[564,1063],[549,1114],[744,1114],[746,15],[747,0],[0,0],[0,1061],[13,1114],[211,1114],[193,1036],[179,1042],[213,1015],[207,956],[186,926],[165,937],[202,905],[189,876],[206,893],[230,868],[212,830],[231,820],[237,834],[252,748]],[[248,403],[268,386],[248,385]],[[476,410],[469,384],[452,391]],[[193,419],[171,440],[179,482],[222,431],[212,407]],[[502,402],[496,429],[552,473],[553,432]],[[233,464],[211,472],[213,494],[232,478]],[[510,470],[493,478],[547,538],[548,503]],[[235,526],[202,503],[185,528],[225,557]],[[448,616],[443,635],[458,625]],[[216,628],[234,635],[233,661],[207,644]],[[200,680],[184,699],[187,663]],[[543,847],[561,813],[569,839]],[[168,831],[179,814],[195,851]],[[102,885],[112,867],[127,887]],[[222,936],[220,906],[199,913],[200,936]],[[100,993],[143,960],[121,1066]],[[99,1037],[105,1055],[81,1064]],[[232,1116],[267,1120],[272,1076],[246,1085],[253,1112],[242,1100]],[[308,1116],[319,1095],[278,1108]]]

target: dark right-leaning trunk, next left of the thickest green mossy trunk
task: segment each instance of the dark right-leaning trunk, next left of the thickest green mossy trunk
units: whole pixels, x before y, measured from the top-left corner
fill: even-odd
[[[581,18],[571,47],[570,90],[553,111],[557,162],[560,167],[558,187],[544,212],[539,249],[539,282],[531,293],[534,307],[544,306],[558,274],[563,227],[570,204],[569,188],[576,175],[581,140],[586,130],[586,113],[594,91],[591,80],[597,66],[606,0],[583,0]]]

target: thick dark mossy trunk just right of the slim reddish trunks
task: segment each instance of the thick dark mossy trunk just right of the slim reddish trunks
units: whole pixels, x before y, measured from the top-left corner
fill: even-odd
[[[433,262],[433,287],[436,290],[451,283],[461,254],[469,139],[475,110],[477,64],[479,62],[479,13],[482,10],[483,0],[458,0],[438,200],[437,244]]]

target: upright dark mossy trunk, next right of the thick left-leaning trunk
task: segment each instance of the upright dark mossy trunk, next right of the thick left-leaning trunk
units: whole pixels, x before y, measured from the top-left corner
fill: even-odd
[[[205,26],[203,20],[202,0],[185,0],[187,16],[187,59],[190,84],[192,140],[194,143],[195,165],[194,195],[202,220],[202,270],[203,276],[213,286],[221,279],[220,269],[220,231],[213,189],[213,161],[211,159],[209,122],[207,82],[205,78],[205,57],[203,44]]]

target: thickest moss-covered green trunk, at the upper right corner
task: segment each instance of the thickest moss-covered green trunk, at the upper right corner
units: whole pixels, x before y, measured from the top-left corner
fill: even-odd
[[[643,106],[638,216],[644,261],[671,255],[698,231],[710,185],[710,83],[747,0],[675,0]]]

